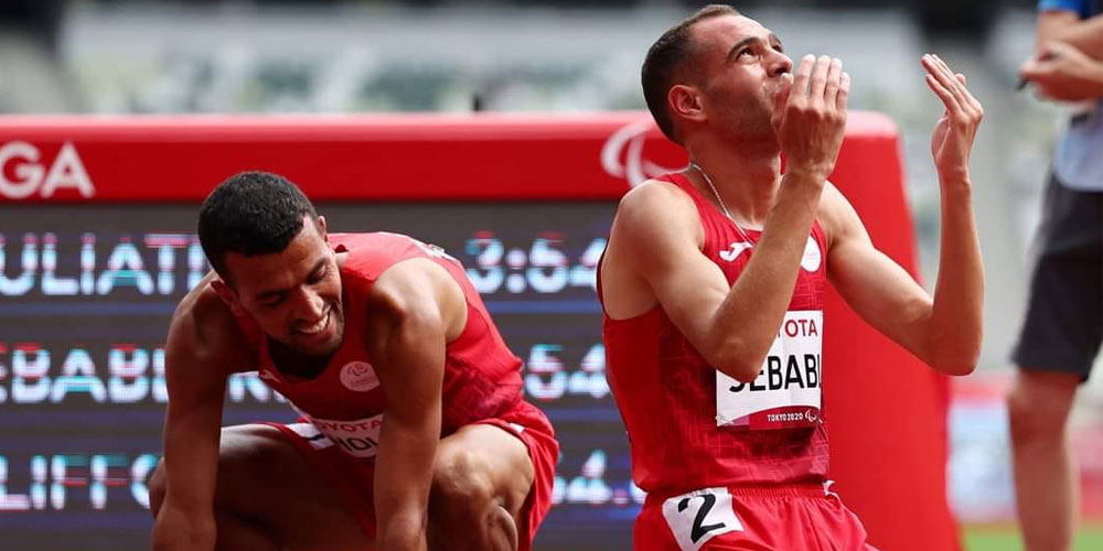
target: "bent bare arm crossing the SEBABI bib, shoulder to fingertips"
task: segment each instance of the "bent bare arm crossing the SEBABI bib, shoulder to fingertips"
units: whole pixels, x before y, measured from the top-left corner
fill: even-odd
[[[639,315],[657,302],[706,360],[741,381],[759,375],[792,299],[823,185],[842,144],[849,77],[837,61],[808,56],[796,69],[792,90],[779,98],[783,116],[775,121],[789,171],[735,285],[729,288],[702,253],[704,235],[692,201],[661,182],[649,182],[621,201],[602,264],[610,315]]]

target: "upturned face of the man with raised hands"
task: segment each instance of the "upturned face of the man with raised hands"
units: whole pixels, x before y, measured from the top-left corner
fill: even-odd
[[[773,136],[774,95],[788,89],[793,62],[769,29],[742,15],[695,24],[702,109],[710,126],[741,138]]]

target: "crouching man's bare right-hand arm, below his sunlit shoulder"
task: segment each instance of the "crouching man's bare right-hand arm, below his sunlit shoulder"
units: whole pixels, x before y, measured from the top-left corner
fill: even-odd
[[[375,466],[378,551],[424,551],[440,441],[445,345],[467,323],[463,291],[426,259],[383,272],[368,299],[367,348],[387,396]]]

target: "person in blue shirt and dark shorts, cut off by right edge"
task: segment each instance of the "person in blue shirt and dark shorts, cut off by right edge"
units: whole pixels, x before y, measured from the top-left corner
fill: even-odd
[[[1018,515],[1027,551],[1067,551],[1077,526],[1068,420],[1103,342],[1103,8],[1041,0],[1038,46],[1019,71],[1072,116],[1053,155],[1008,395]]]

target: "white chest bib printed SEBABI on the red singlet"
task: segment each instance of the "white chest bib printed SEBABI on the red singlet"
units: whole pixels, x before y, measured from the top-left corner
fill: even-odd
[[[822,422],[823,312],[785,312],[762,370],[751,382],[716,371],[716,424],[731,429],[785,429]]]

